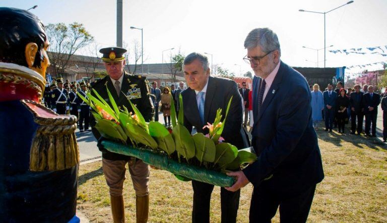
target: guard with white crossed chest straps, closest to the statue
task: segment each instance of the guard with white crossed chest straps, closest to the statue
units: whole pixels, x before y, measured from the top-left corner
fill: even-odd
[[[58,87],[52,91],[51,95],[51,108],[54,112],[59,115],[66,115],[66,110],[69,110],[68,106],[68,93],[67,90],[63,88],[63,79],[56,79]]]

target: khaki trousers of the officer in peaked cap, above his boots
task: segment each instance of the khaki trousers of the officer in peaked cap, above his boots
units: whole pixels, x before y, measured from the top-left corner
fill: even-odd
[[[126,164],[128,164],[136,196],[144,197],[148,195],[149,165],[145,164],[142,160],[136,160],[136,163],[134,163],[134,161],[134,158],[133,160],[117,161],[102,158],[103,174],[105,175],[111,196],[122,196]]]

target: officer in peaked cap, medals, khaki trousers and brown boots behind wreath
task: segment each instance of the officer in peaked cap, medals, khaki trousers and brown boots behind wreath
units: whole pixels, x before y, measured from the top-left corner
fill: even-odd
[[[125,49],[120,47],[103,48],[99,51],[103,54],[102,60],[105,64],[108,76],[91,84],[100,96],[110,104],[106,88],[111,93],[119,109],[133,112],[129,100],[137,106],[145,121],[152,120],[153,104],[150,99],[148,81],[145,77],[128,75],[123,67]],[[92,93],[93,94],[93,93]],[[93,95],[94,96],[94,95]],[[149,210],[149,165],[143,161],[120,154],[108,152],[101,145],[101,134],[94,128],[95,120],[92,116],[91,126],[94,136],[99,139],[98,147],[102,152],[102,169],[109,186],[111,211],[114,222],[124,222],[124,204],[122,197],[123,182],[125,180],[126,164],[136,191],[136,218],[137,222],[147,222]]]

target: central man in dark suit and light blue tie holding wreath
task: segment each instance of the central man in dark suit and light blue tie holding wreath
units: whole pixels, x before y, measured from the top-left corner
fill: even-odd
[[[189,132],[195,126],[198,132],[208,133],[203,126],[213,123],[218,108],[225,117],[228,101],[232,98],[222,137],[237,148],[248,146],[242,128],[242,103],[236,83],[229,79],[210,77],[206,56],[190,53],[184,59],[184,75],[189,88],[181,92],[184,109],[184,126]],[[192,222],[210,221],[210,200],[214,185],[192,181]],[[230,192],[221,188],[222,222],[236,222],[240,190]]]

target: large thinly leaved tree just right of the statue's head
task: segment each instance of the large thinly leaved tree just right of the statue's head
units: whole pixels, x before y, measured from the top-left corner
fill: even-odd
[[[50,62],[55,69],[56,75],[64,72],[64,69],[70,65],[71,57],[94,39],[83,24],[77,22],[69,25],[64,23],[48,24],[46,33],[52,51],[50,53]]]

